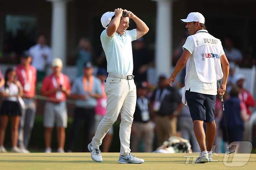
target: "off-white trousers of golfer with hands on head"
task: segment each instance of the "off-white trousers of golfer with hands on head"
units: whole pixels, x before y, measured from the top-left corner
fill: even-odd
[[[117,120],[120,113],[120,155],[129,154],[131,151],[131,128],[137,98],[134,80],[108,77],[105,83],[105,93],[107,95],[107,114],[100,121],[91,144],[96,149],[99,149],[102,139],[109,131],[111,125]]]

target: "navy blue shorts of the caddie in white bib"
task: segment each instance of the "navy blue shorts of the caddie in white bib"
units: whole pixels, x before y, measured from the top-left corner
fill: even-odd
[[[186,90],[186,100],[192,120],[214,121],[216,95],[190,92]]]

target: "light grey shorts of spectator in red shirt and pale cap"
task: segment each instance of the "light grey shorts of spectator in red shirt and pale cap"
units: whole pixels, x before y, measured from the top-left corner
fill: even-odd
[[[66,102],[46,102],[44,108],[44,127],[54,127],[55,120],[57,127],[67,127],[68,114]]]

